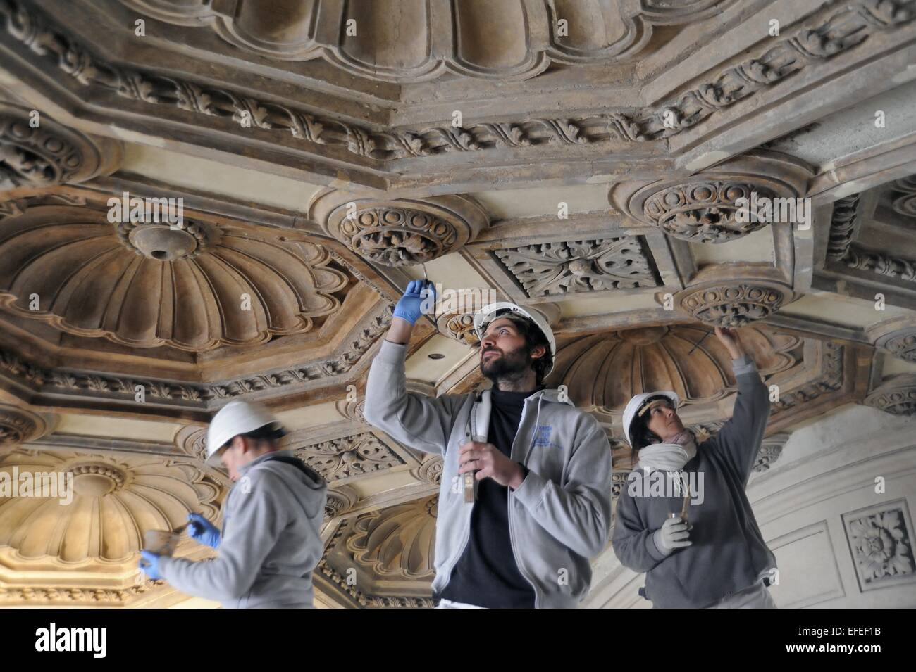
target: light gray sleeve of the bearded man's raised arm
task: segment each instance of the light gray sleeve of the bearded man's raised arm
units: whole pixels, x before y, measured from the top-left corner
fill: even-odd
[[[406,345],[384,341],[369,368],[365,387],[365,421],[396,441],[424,453],[445,453],[464,398],[427,397],[408,392],[404,374]]]

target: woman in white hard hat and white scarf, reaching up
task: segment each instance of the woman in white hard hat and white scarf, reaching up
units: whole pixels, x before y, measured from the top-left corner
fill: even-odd
[[[769,418],[767,387],[736,331],[715,327],[732,357],[732,417],[700,445],[672,391],[638,394],[623,426],[638,463],[617,500],[614,552],[646,572],[654,607],[773,608],[776,558],[745,494]]]

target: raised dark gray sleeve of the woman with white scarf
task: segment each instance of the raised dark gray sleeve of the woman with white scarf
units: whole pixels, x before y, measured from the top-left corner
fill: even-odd
[[[769,391],[747,355],[732,363],[738,384],[735,409],[712,443],[747,485],[769,420]]]

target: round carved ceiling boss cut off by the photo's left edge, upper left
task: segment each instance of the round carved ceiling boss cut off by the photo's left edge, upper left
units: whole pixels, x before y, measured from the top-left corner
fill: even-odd
[[[47,114],[0,102],[0,192],[107,175],[121,158],[117,141],[89,137],[55,123]]]

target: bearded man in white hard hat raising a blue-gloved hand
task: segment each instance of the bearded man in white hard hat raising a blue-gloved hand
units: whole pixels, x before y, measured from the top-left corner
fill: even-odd
[[[399,442],[442,455],[432,583],[439,606],[574,607],[609,534],[605,432],[543,386],[556,355],[553,332],[537,311],[516,304],[474,315],[492,389],[436,398],[408,392],[404,358],[427,291],[426,281],[414,281],[398,301],[369,370],[364,413]],[[465,475],[474,475],[472,496]]]

